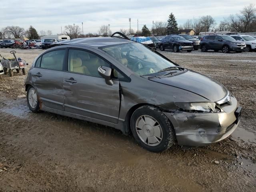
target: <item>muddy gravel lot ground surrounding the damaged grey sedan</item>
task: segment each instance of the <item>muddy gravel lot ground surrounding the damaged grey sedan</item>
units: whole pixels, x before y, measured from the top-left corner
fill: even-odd
[[[1,49],[10,57],[10,49]],[[32,64],[42,50],[16,50]],[[162,52],[224,84],[243,106],[222,142],[148,152],[106,126],[27,107],[24,78],[0,79],[0,191],[256,191],[256,52]],[[29,65],[30,66],[30,65]],[[28,66],[28,67],[29,67]]]

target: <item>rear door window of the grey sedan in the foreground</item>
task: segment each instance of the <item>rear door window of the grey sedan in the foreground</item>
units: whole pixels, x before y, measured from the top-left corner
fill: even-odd
[[[63,63],[66,50],[54,50],[42,56],[41,68],[52,70],[63,70]]]

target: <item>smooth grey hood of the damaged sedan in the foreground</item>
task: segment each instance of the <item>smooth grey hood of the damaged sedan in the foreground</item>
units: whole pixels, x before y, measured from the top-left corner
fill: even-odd
[[[221,100],[228,94],[228,90],[222,84],[191,70],[177,76],[150,80],[193,92],[211,102]]]

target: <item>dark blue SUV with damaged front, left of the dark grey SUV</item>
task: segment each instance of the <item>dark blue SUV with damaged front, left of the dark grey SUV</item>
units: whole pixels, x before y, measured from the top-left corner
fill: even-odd
[[[179,52],[180,50],[191,52],[193,50],[193,42],[179,35],[169,35],[163,38],[160,43],[160,50],[164,51],[165,49],[172,49],[174,52]]]

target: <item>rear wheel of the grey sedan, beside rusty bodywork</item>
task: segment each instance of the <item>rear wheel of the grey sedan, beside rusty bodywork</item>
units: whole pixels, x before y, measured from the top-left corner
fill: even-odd
[[[38,95],[37,95],[36,90],[32,86],[28,86],[27,103],[28,103],[29,109],[32,112],[34,112],[34,113],[40,112],[40,108],[39,108],[40,103],[38,102]]]

